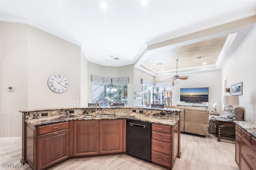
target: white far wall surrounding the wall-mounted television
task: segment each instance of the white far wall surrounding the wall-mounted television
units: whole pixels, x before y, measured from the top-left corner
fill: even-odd
[[[182,73],[180,75],[186,75],[188,76],[188,79],[178,80],[178,83],[177,81],[174,81],[174,86],[172,87],[172,105],[193,105],[193,103],[184,103],[180,101],[181,87],[209,87],[209,102],[203,102],[201,105],[208,104],[209,111],[213,111],[212,103],[218,102],[219,104],[216,106],[216,109],[217,111],[222,110],[221,70],[211,71],[208,73]],[[156,77],[155,81],[166,81],[166,78],[169,77]]]

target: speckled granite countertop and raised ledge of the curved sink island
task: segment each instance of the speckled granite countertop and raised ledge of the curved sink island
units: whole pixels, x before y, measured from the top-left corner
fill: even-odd
[[[74,111],[74,113],[70,113]],[[162,125],[175,125],[179,120],[180,109],[166,108],[140,108],[140,107],[100,107],[100,113],[95,113],[96,108],[87,107],[67,107],[67,108],[48,108],[20,111],[25,115],[26,123],[33,126],[50,125],[65,121],[80,120],[102,120],[102,119],[134,119]],[[133,112],[136,111],[136,112]],[[140,113],[143,111],[143,113]],[[43,116],[47,113],[48,116]],[[162,115],[165,114],[165,115]],[[89,115],[115,115],[106,118],[88,118]]]

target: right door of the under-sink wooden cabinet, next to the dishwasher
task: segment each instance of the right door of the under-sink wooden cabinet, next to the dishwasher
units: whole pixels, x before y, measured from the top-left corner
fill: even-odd
[[[100,121],[100,154],[123,152],[123,120]]]

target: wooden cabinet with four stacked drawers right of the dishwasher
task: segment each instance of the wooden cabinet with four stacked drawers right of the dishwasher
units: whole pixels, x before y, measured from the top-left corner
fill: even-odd
[[[152,124],[152,162],[172,169],[179,153],[179,123],[172,126]]]

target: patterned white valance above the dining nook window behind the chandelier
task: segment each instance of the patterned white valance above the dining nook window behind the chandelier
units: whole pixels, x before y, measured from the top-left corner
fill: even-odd
[[[112,79],[113,84],[129,83],[129,77],[111,78],[111,77],[98,77],[98,76],[95,76],[95,75],[91,76],[91,82],[92,83],[110,84],[110,79]]]

